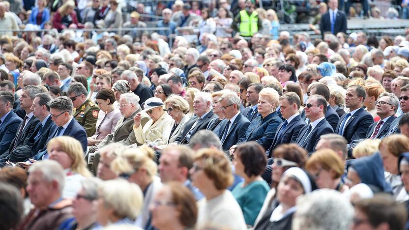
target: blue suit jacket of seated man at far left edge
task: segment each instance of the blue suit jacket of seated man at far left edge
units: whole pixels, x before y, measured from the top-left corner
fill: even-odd
[[[0,155],[5,153],[10,147],[22,121],[23,119],[13,111],[10,111],[4,121],[0,124]]]

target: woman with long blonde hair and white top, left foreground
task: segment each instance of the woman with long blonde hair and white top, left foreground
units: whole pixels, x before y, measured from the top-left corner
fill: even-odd
[[[74,198],[81,189],[81,181],[91,176],[81,143],[68,136],[55,137],[47,144],[47,152],[49,159],[57,161],[65,171],[62,197]]]

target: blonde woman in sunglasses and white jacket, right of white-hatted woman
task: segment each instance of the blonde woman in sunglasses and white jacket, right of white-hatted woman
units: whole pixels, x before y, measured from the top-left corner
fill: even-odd
[[[176,137],[182,133],[185,128],[186,122],[189,120],[189,103],[183,97],[179,95],[171,95],[165,100],[165,108],[168,114],[173,118],[169,142],[167,144],[172,144],[175,142]],[[162,150],[167,144],[154,146],[154,150]]]

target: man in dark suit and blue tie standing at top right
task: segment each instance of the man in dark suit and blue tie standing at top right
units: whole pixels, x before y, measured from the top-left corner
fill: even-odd
[[[320,29],[322,38],[329,31],[332,34],[338,32],[347,33],[347,16],[345,12],[338,10],[338,0],[328,0],[328,12],[321,17]]]

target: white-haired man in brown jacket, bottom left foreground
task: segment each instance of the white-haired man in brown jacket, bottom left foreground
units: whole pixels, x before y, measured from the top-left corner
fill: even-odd
[[[52,160],[36,162],[29,168],[27,193],[34,208],[21,224],[22,229],[58,229],[72,218],[72,200],[62,198],[65,173]]]

